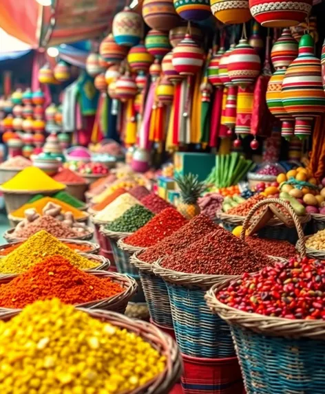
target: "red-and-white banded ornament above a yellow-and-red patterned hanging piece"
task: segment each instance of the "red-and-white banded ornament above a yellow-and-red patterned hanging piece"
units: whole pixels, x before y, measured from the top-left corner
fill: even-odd
[[[251,85],[260,74],[261,60],[247,39],[240,39],[229,55],[228,74],[233,85]]]

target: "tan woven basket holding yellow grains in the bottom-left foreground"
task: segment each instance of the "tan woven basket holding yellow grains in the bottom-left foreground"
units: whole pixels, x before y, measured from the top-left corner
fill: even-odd
[[[93,318],[97,318],[111,325],[127,329],[127,331],[135,333],[146,342],[149,342],[161,355],[166,358],[165,371],[160,373],[147,384],[140,386],[134,391],[127,391],[123,394],[169,394],[174,384],[179,380],[182,374],[182,358],[178,351],[178,347],[174,340],[162,333],[154,325],[140,320],[132,320],[121,314],[112,311],[103,311],[101,309],[85,309],[78,308],[89,314]],[[10,311],[0,316],[1,320],[9,320],[17,315],[17,311]]]

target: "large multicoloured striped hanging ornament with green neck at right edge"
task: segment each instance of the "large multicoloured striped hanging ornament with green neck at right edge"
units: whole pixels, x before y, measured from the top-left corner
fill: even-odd
[[[284,109],[295,118],[295,135],[311,135],[313,117],[325,111],[322,69],[314,55],[314,41],[309,34],[302,36],[297,58],[286,69],[282,83]]]

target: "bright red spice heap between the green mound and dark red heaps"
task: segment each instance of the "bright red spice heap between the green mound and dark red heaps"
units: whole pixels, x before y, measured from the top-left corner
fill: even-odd
[[[166,208],[124,241],[129,245],[148,248],[173,234],[185,223],[187,220],[176,209]]]

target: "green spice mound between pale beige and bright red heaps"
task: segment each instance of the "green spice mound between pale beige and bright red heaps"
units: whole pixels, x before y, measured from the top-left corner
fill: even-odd
[[[118,219],[107,223],[105,228],[115,232],[134,232],[138,228],[145,226],[145,223],[153,217],[154,213],[151,210],[137,204],[125,211]]]

